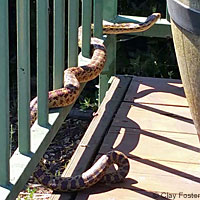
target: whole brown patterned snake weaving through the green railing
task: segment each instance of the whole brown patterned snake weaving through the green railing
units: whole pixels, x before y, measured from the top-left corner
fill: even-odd
[[[104,25],[104,34],[123,34],[142,32],[148,30],[160,18],[160,13],[153,13],[145,22],[122,23]],[[79,44],[81,43],[82,29],[79,28]],[[88,82],[96,78],[102,71],[106,62],[106,48],[103,40],[91,38],[92,57],[88,65],[71,67],[64,71],[64,87],[49,92],[48,105],[50,108],[64,107],[72,104],[79,95],[80,83]],[[30,117],[32,125],[37,118],[37,97],[30,103]],[[106,173],[107,169],[117,164],[118,169],[114,173]],[[49,175],[42,163],[36,167],[35,178],[45,187],[58,192],[78,191],[91,187],[101,181],[106,183],[117,183],[123,181],[129,171],[129,162],[126,155],[119,151],[110,151],[101,156],[95,164],[81,175],[73,177],[60,177]]]

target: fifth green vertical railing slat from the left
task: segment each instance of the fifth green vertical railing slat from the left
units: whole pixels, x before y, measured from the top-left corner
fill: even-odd
[[[78,65],[79,0],[68,1],[68,67]]]

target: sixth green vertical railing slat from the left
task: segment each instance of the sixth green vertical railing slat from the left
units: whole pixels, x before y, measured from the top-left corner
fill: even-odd
[[[82,1],[82,55],[90,57],[92,0]]]

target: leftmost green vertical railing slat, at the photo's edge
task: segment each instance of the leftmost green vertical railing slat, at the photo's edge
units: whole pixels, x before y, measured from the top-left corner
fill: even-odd
[[[8,42],[8,1],[0,6],[0,185],[6,186],[10,179],[9,167],[9,42]]]

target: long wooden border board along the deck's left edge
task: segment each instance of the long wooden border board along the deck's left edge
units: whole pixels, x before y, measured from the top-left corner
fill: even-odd
[[[96,156],[97,150],[123,100],[131,77],[117,76],[106,93],[97,115],[93,118],[79,146],[62,176],[69,177],[84,172]],[[73,199],[75,193],[53,194],[51,200]]]

